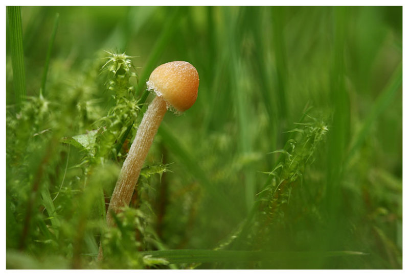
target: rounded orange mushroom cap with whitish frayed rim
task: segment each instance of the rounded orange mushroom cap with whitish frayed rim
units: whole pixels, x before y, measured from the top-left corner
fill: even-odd
[[[184,112],[196,102],[199,74],[189,62],[172,61],[156,67],[146,84],[168,105]]]

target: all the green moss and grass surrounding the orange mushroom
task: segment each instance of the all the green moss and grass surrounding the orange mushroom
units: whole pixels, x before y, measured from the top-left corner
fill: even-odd
[[[402,267],[401,7],[22,7],[21,54],[7,16],[8,268]],[[145,82],[173,60],[197,102],[106,230]]]

